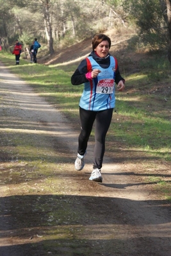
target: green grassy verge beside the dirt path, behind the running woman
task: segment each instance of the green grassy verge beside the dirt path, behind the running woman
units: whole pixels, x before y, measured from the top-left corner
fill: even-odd
[[[76,65],[47,66],[20,60],[20,65],[16,66],[14,56],[3,52],[1,61],[12,73],[31,85],[40,96],[54,107],[60,108],[71,123],[79,122],[78,103],[83,85],[72,86],[70,83],[70,76]],[[165,58],[155,57],[146,62],[142,61],[140,68],[140,73],[126,75],[126,92],[116,92],[116,114],[113,115],[108,132],[106,152],[115,152],[116,146],[119,145],[124,151],[130,151],[131,155],[135,151],[138,155],[146,154],[151,158],[151,162],[157,161],[156,166],[153,166],[155,171],[159,162],[165,163],[166,166],[170,166],[171,162],[170,65]],[[122,149],[118,149],[120,154]],[[149,165],[146,166],[146,173]],[[156,173],[158,186],[155,189],[164,193],[170,200],[170,176],[167,177],[161,178],[161,175]]]

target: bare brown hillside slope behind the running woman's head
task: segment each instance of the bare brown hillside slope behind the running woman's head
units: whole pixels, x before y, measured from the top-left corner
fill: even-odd
[[[123,31],[116,32],[115,30],[110,30],[106,32],[106,35],[111,38],[110,53],[117,57],[121,71],[124,65],[124,71],[127,70],[132,73],[133,69],[137,68],[139,60],[143,58],[142,54],[134,53],[133,50],[130,51],[127,48],[129,40],[134,35],[134,31],[123,29]],[[72,46],[55,51],[53,56],[49,55],[40,58],[39,62],[45,65],[62,64],[65,62],[78,64],[83,58],[88,56],[91,51],[92,37],[88,37]],[[133,60],[133,65],[131,65],[130,59]]]

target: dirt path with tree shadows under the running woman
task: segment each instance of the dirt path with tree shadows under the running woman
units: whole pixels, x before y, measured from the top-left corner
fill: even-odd
[[[90,182],[93,145],[77,172],[77,132],[3,64],[0,99],[1,256],[171,255],[170,205],[142,182],[141,162],[106,156],[103,183]]]

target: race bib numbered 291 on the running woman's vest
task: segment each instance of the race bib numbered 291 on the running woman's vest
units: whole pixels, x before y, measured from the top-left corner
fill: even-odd
[[[114,88],[114,79],[101,79],[97,83],[96,92],[103,94],[111,94],[113,93]]]

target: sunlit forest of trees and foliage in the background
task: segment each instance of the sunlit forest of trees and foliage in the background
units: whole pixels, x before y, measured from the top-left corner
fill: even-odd
[[[95,33],[132,29],[135,50],[167,51],[171,64],[171,0],[0,0],[0,45],[35,37],[49,55]],[[130,31],[130,30],[129,30]]]

